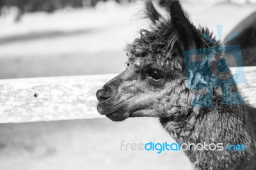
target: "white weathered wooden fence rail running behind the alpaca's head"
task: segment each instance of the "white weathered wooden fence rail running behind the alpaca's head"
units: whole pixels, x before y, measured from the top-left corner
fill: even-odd
[[[115,75],[0,80],[0,123],[102,118],[95,93]],[[256,66],[244,67],[239,90],[256,106]]]

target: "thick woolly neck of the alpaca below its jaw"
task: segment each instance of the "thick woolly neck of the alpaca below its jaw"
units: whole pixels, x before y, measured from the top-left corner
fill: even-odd
[[[214,90],[213,95],[213,107],[188,109],[186,115],[189,116],[182,122],[163,118],[160,120],[163,127],[180,143],[223,143],[224,148],[221,151],[195,151],[193,149],[185,151],[198,169],[204,169],[205,166],[212,166],[213,169],[225,168],[226,165],[230,168],[239,167],[241,162],[252,160],[252,157],[255,161],[255,156],[252,155],[252,150],[255,151],[255,145],[252,132],[250,132],[250,120],[248,120],[245,105],[223,105],[220,102],[221,96],[218,90]],[[243,144],[246,151],[235,151],[234,153],[225,150],[225,146],[230,144]],[[234,162],[230,161],[230,158],[236,160],[236,166]],[[225,166],[221,165],[221,161],[225,162]]]

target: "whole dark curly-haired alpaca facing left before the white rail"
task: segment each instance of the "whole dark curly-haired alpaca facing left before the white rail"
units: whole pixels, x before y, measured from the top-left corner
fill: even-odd
[[[150,27],[142,29],[140,38],[127,45],[126,70],[97,91],[99,113],[113,121],[157,117],[163,128],[180,143],[246,146],[245,151],[184,151],[197,169],[256,169],[255,110],[243,103],[232,104],[241,100],[239,95],[221,90],[220,86],[224,88],[226,82],[214,86],[218,81],[204,71],[211,66],[208,56],[214,56],[216,51],[208,50],[206,61],[195,64],[189,75],[185,70],[188,58],[183,57],[184,50],[204,51],[221,47],[221,42],[215,40],[207,28],[196,28],[178,1],[166,6],[170,13],[168,19],[157,12],[150,1],[145,3],[145,8]],[[214,41],[205,40],[203,35]],[[225,49],[221,54],[225,54]],[[188,81],[194,86],[193,90],[188,88]],[[232,78],[228,81],[234,82]],[[195,99],[205,95],[205,89],[212,90],[211,106],[207,105],[211,104],[211,98]],[[236,84],[228,90],[237,91]],[[223,104],[223,98],[230,103]]]

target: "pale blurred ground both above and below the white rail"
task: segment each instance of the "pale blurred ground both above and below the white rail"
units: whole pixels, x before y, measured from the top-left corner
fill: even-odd
[[[217,35],[223,25],[222,39],[256,11],[255,0],[181,3],[196,26]],[[125,43],[148,24],[142,9],[136,0],[0,0],[0,79],[120,73]],[[182,152],[121,151],[122,140],[173,142],[153,118],[1,124],[0,169],[192,169]]]

